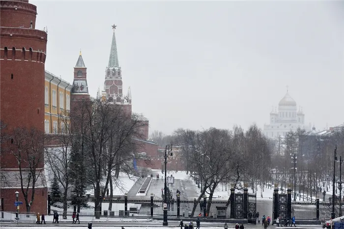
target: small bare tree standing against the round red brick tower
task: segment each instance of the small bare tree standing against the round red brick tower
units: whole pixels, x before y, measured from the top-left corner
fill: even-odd
[[[21,191],[27,212],[30,211],[37,186],[45,187],[44,177],[44,133],[34,128],[17,128],[11,137],[10,152],[19,166]],[[31,195],[29,195],[31,191]]]

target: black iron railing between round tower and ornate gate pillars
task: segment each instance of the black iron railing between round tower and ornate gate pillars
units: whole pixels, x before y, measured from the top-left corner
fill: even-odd
[[[80,217],[93,217],[95,215],[94,198],[74,198],[67,200],[66,215],[72,215],[73,212],[79,212]],[[63,216],[63,203],[61,199],[48,198],[48,215],[53,215],[57,211],[60,217]],[[129,217],[129,218],[162,218],[164,215],[163,200],[161,198],[114,198],[110,207],[110,198],[104,198],[101,204],[100,216],[111,217]],[[204,208],[210,204],[209,210],[204,217]],[[179,209],[178,209],[179,205]],[[206,206],[203,199],[197,202],[195,200],[174,200],[168,202],[167,212],[170,218],[223,218],[230,216],[230,204],[228,200],[207,200]],[[193,208],[195,210],[193,212]],[[110,210],[109,210],[110,209]]]

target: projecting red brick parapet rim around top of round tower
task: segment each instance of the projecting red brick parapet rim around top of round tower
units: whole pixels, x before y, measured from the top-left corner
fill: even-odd
[[[48,34],[45,31],[25,29],[25,28],[9,28],[9,27],[0,27],[0,38],[1,37],[28,37],[44,40],[47,42]]]

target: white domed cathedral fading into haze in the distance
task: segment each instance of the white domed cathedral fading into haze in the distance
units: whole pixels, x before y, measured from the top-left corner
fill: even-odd
[[[305,114],[302,109],[297,111],[296,102],[287,94],[270,112],[270,124],[264,125],[264,134],[269,138],[286,136],[289,131],[297,131],[298,128],[311,131],[311,126],[305,125]]]

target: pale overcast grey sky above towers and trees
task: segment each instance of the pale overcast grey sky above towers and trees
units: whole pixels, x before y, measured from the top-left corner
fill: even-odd
[[[46,69],[72,83],[81,49],[93,97],[117,25],[123,88],[150,132],[263,128],[287,85],[306,123],[343,123],[344,1],[30,2]]]

